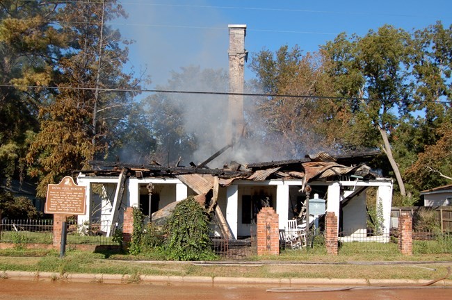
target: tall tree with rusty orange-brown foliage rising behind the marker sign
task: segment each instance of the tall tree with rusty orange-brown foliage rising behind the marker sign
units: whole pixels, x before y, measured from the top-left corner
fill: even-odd
[[[120,33],[105,25],[115,17],[126,14],[114,0],[64,2],[57,10],[58,36],[65,37],[51,65],[56,70],[51,82],[58,88],[40,106],[40,131],[26,156],[30,174],[40,178],[40,196],[49,183],[105,157],[136,94],[108,89],[139,89],[133,74],[122,72],[128,51],[120,45]]]

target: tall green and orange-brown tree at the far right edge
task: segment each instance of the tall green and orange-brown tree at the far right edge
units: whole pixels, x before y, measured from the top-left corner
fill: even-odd
[[[417,159],[407,169],[407,178],[419,190],[450,182],[452,176],[452,26],[437,22],[414,33],[412,74],[417,109],[425,112],[416,119],[419,144]]]

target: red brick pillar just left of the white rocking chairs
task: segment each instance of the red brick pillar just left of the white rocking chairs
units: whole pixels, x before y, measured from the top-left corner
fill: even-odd
[[[257,255],[280,254],[280,223],[273,208],[257,214]]]

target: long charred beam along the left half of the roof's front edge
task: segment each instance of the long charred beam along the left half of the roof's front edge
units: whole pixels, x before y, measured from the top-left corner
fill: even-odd
[[[211,174],[221,178],[250,176],[250,172],[232,171],[227,169],[204,169],[194,167],[164,167],[161,165],[134,165],[124,163],[106,162],[101,160],[90,160],[91,166],[97,167],[112,167],[112,168],[128,168],[128,169],[140,169],[147,170],[153,173],[163,173],[166,175],[179,175],[179,174]],[[96,172],[96,171],[92,171]]]

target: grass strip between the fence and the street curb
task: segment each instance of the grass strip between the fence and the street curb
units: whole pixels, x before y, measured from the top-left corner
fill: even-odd
[[[452,261],[440,263],[451,260],[448,254],[388,257],[387,253],[377,252],[370,257],[365,253],[328,256],[308,253],[305,250],[288,250],[282,251],[280,256],[251,257],[250,260],[242,262],[244,265],[225,265],[222,261],[209,264],[145,261],[147,257],[67,251],[64,258],[59,258],[59,253],[55,250],[8,249],[0,250],[0,271],[56,272],[61,275],[90,273],[131,276],[138,274],[255,278],[433,279],[444,276],[447,272],[446,267],[452,266]]]

